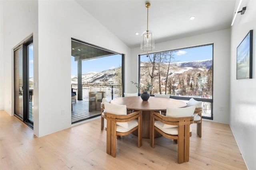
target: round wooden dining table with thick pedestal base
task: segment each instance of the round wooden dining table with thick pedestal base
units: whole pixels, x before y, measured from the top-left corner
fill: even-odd
[[[142,110],[142,137],[150,138],[150,111],[166,111],[166,107],[186,107],[186,103],[172,98],[160,98],[150,96],[148,101],[142,101],[140,96],[115,98],[112,104],[126,105],[127,109]],[[138,131],[134,131],[138,136]],[[155,137],[161,135],[155,131]]]

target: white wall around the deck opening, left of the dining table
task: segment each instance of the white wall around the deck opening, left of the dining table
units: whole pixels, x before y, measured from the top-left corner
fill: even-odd
[[[130,49],[74,0],[39,1],[38,23],[37,135],[43,136],[71,126],[71,37],[126,57]]]

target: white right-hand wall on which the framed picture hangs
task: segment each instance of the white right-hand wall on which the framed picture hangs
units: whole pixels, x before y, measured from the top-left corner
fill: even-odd
[[[238,1],[236,2],[236,6]],[[244,15],[231,27],[230,127],[249,170],[256,168],[256,1],[243,1]],[[236,9],[235,9],[236,10]],[[252,79],[236,80],[236,48],[253,29]]]

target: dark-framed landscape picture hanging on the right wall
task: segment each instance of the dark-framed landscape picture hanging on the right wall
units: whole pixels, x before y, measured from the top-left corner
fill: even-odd
[[[252,78],[252,30],[236,49],[236,79]]]

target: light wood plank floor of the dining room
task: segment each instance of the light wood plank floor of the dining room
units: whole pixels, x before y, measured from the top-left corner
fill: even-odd
[[[117,141],[116,158],[106,154],[106,131],[100,119],[44,137],[14,116],[0,111],[1,170],[246,170],[229,125],[203,121],[202,138],[192,125],[189,162],[177,163],[177,145],[164,137],[155,140],[130,134]]]

